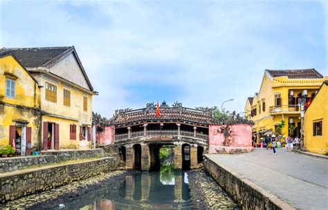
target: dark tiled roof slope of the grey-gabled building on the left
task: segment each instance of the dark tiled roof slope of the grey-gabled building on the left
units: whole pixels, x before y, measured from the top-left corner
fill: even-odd
[[[7,51],[15,55],[26,68],[46,67],[56,58],[73,50],[69,47],[47,47],[47,48],[2,48],[0,53]]]

